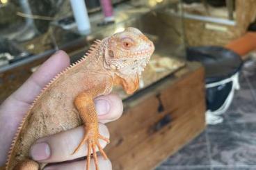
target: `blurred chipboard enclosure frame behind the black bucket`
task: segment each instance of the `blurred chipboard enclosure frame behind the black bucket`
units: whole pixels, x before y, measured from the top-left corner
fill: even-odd
[[[221,24],[184,18],[184,32],[189,46],[217,45],[225,46],[246,33],[248,26],[256,19],[255,0],[235,0],[235,19],[232,24]],[[224,10],[225,8],[219,8]],[[199,10],[202,10],[201,8]],[[196,11],[198,12],[198,11]],[[195,12],[195,14],[196,14]],[[227,10],[225,11],[227,13]],[[205,17],[209,17],[205,15]],[[225,17],[214,17],[227,19]],[[228,21],[228,20],[227,20]],[[232,20],[231,20],[232,21]]]

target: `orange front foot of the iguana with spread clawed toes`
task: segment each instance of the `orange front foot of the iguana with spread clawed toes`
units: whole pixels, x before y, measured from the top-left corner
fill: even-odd
[[[96,154],[96,147],[99,148],[99,152],[102,154],[104,159],[108,159],[106,156],[106,153],[103,151],[102,146],[100,146],[100,144],[99,144],[99,139],[103,139],[107,143],[109,143],[109,139],[107,139],[106,137],[99,134],[97,124],[86,124],[86,126],[84,126],[84,128],[85,128],[85,135],[83,135],[82,141],[80,142],[79,146],[77,146],[77,148],[74,150],[72,155],[74,153],[77,153],[77,151],[79,151],[81,146],[83,146],[83,144],[85,144],[87,142],[87,150],[88,151],[87,151],[86,169],[89,170],[90,155],[91,155],[91,151],[93,151],[93,159],[95,162],[95,168],[96,168],[96,170],[98,170],[99,167],[98,167],[98,160],[97,160],[97,154]]]

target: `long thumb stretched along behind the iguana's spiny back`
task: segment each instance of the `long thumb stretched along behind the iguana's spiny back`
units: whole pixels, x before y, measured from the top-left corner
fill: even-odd
[[[64,51],[58,51],[3,102],[0,110],[6,110],[9,117],[13,117],[13,114],[15,114],[15,120],[18,122],[13,122],[13,124],[19,123],[42,88],[68,65],[70,65],[70,58]]]

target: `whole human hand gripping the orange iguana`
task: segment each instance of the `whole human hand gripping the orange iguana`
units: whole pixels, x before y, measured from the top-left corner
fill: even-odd
[[[0,165],[7,158],[10,144],[17,128],[29,110],[31,103],[40,93],[43,87],[70,65],[70,58],[64,51],[58,51],[49,60],[35,71],[35,73],[19,89],[3,101],[0,105]],[[122,101],[115,94],[99,96],[95,99],[98,113],[99,133],[109,138],[109,130],[104,124],[118,119],[122,114]],[[86,156],[87,146],[83,146],[77,154],[70,155],[74,148],[81,142],[83,127],[67,130],[63,133],[51,135],[38,139],[31,146],[31,157],[38,162],[64,162]],[[104,148],[106,142],[100,141]],[[3,153],[3,154],[2,154]],[[91,165],[94,167],[94,164]],[[70,162],[51,165],[45,169],[86,169],[85,160],[74,160]],[[99,157],[99,169],[111,169],[111,162]]]

